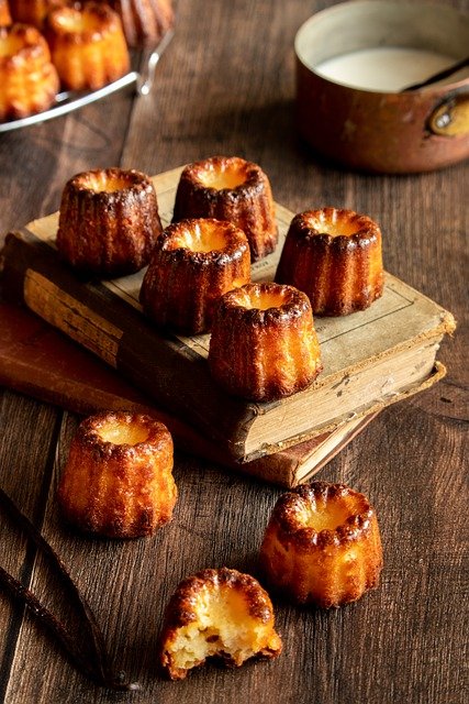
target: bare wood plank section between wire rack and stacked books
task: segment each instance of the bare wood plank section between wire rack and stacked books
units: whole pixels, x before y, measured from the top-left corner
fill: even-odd
[[[121,161],[133,92],[0,135],[0,235],[54,212],[68,178]]]

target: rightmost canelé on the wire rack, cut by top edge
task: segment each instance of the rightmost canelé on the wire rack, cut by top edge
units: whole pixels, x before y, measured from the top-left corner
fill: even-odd
[[[172,0],[110,0],[120,15],[129,46],[155,47],[175,22]]]

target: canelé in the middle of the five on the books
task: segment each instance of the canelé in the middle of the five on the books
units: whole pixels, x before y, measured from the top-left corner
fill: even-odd
[[[163,232],[146,271],[141,301],[159,326],[206,332],[216,300],[250,280],[246,235],[230,222],[181,220]]]

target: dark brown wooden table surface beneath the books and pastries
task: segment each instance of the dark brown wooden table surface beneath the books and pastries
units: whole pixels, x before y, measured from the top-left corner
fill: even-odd
[[[449,309],[458,330],[446,378],[391,406],[321,472],[364,492],[380,521],[379,588],[337,609],[275,602],[282,656],[163,680],[156,642],[179,581],[227,565],[258,574],[257,552],[281,491],[177,457],[179,501],[155,537],[109,541],[67,529],[55,491],[79,418],[0,389],[0,485],[41,529],[91,604],[135,693],[94,685],[0,591],[0,701],[462,704],[468,690],[467,235],[468,168],[358,175],[320,161],[293,122],[293,37],[326,1],[179,2],[175,38],[152,95],[126,90],[68,117],[0,135],[0,224],[58,208],[71,175],[122,165],[156,174],[215,154],[259,163],[291,210],[335,205],[383,230],[384,262]],[[465,0],[450,2],[462,9]],[[467,8],[467,6],[466,6]],[[467,447],[467,446],[466,446]],[[0,516],[0,564],[68,618],[47,561]],[[71,618],[71,616],[70,616]]]

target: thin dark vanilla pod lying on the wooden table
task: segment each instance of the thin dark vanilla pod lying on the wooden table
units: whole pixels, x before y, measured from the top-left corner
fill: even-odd
[[[36,616],[41,623],[52,630],[76,667],[88,678],[94,680],[102,686],[114,690],[129,691],[138,689],[137,684],[126,682],[123,673],[113,673],[111,671],[104,638],[88,602],[80,594],[78,587],[71,580],[63,561],[55,550],[1,488],[0,508],[2,508],[10,518],[16,522],[16,525],[25,532],[27,538],[33,540],[37,548],[51,559],[53,565],[57,569],[58,574],[74,596],[81,616],[83,616],[83,625],[87,630],[87,635],[90,637],[93,660],[77,649],[76,641],[67,627],[64,626],[64,624],[62,624],[62,622],[58,620],[29,588],[11,576],[1,566],[0,586],[8,591],[13,597],[25,604],[34,616]]]

